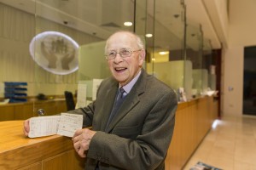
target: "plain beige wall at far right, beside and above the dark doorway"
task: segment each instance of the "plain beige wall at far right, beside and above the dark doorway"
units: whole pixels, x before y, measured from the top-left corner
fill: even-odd
[[[256,45],[256,1],[230,0],[229,48],[224,48],[223,113],[242,115],[243,48]],[[233,87],[233,91],[229,91]]]

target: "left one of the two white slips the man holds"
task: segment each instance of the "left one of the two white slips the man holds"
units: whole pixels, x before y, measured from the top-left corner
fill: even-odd
[[[57,133],[61,116],[38,116],[29,120],[29,138],[49,136]]]

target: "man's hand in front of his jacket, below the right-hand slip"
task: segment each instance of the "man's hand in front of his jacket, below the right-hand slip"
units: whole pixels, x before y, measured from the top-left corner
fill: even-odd
[[[78,152],[79,156],[86,157],[85,151],[89,150],[90,140],[95,135],[96,131],[91,131],[88,128],[79,129],[73,135],[73,147]]]

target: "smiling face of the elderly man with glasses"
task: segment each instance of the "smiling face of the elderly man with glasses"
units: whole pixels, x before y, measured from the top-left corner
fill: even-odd
[[[117,53],[122,49],[131,49],[135,51],[131,53],[130,57],[122,58],[119,54],[116,54],[114,59],[108,59],[108,66],[112,72],[113,77],[121,84],[126,85],[137,76],[140,71],[144,56],[144,51],[136,51],[140,49],[137,46],[137,39],[131,33],[117,32],[108,39],[108,53],[115,51]]]

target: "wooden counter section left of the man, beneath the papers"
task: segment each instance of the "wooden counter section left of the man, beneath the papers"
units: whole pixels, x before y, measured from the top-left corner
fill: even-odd
[[[0,122],[1,170],[84,169],[72,139],[60,135],[29,139],[22,129],[23,121]]]

